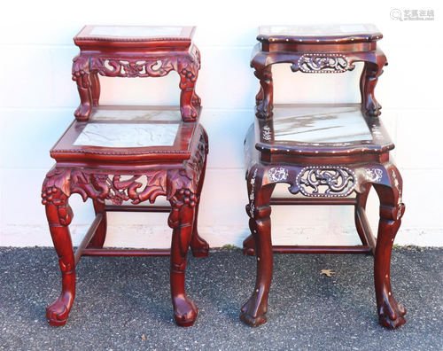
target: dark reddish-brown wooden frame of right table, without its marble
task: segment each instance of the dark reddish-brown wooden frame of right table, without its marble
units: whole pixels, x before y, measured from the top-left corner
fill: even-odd
[[[259,35],[260,43],[253,51],[251,65],[260,80],[260,91],[256,97],[255,124],[245,138],[249,197],[246,212],[250,217],[252,234],[245,239],[244,253],[257,255],[257,279],[251,298],[241,310],[240,319],[252,326],[266,323],[273,253],[372,253],[375,256],[378,321],[386,328],[395,329],[406,323],[406,309],[394,299],[390,283],[392,245],[400,228],[405,206],[401,200],[400,172],[389,156],[394,145],[377,118],[381,106],[374,97],[377,78],[386,64],[385,55],[377,48],[376,43],[381,35],[357,35],[353,38],[342,36],[332,39],[313,35],[305,41],[306,38],[293,35]],[[302,41],[303,44],[299,43]],[[330,71],[323,73],[341,73],[351,70],[356,61],[365,63],[360,82],[361,114],[365,116],[372,140],[341,144],[274,140],[271,67],[277,63],[290,62],[292,71],[307,72],[306,66],[301,67],[300,63],[306,62],[304,55],[308,56],[312,52],[319,53],[316,56],[321,58],[344,55],[341,61],[343,65],[338,68],[347,65],[346,69],[340,68],[338,72],[333,72],[337,68],[333,66]],[[341,190],[337,186],[340,182],[346,184]],[[306,197],[272,199],[276,183],[287,183],[292,194],[301,193]],[[315,190],[315,193],[307,191],[320,187],[319,184],[323,184],[327,190]],[[377,191],[380,199],[377,239],[370,230],[365,214],[371,188]],[[356,198],[346,198],[353,193]],[[362,246],[272,246],[271,205],[354,206],[355,224]]]

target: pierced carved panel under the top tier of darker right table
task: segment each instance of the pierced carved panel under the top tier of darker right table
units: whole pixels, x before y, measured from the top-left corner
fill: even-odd
[[[304,73],[341,73],[354,69],[341,54],[305,54],[299,58],[298,66]]]

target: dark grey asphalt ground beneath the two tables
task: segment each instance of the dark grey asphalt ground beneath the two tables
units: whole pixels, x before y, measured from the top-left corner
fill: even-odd
[[[407,324],[377,324],[370,256],[276,254],[268,324],[238,319],[253,292],[255,257],[213,250],[190,257],[190,328],[174,323],[166,257],[83,257],[74,308],[46,323],[60,289],[52,248],[0,248],[0,349],[7,350],[443,350],[443,249],[399,247],[392,291]],[[332,269],[332,277],[320,275]]]

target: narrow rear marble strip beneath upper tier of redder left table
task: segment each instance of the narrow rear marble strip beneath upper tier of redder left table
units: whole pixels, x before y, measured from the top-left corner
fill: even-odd
[[[97,109],[89,121],[182,121],[180,111]]]

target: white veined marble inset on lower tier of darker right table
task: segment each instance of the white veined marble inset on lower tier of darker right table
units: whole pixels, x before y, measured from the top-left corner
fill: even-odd
[[[275,107],[274,140],[342,143],[372,136],[359,106]]]

